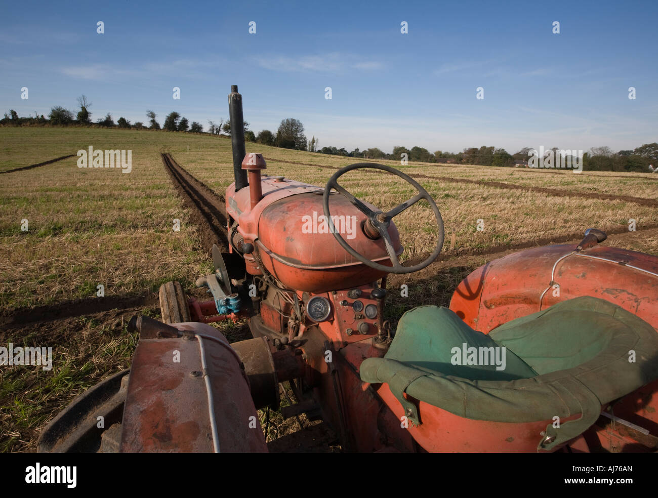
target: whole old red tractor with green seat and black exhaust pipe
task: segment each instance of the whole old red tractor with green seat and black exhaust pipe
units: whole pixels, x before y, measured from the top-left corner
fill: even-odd
[[[232,123],[239,97],[234,88]],[[135,318],[130,371],[78,397],[40,451],[266,451],[257,409],[278,407],[286,381],[297,402],[286,414],[321,417],[343,451],[658,449],[658,257],[603,247],[591,229],[577,246],[488,262],[449,309],[411,309],[393,331],[386,276],[425,268],[442,249],[432,197],[368,162],[324,189],[261,176],[265,161],[245,155],[241,128],[225,195],[230,253],[215,247],[215,272],[197,280],[213,300],[165,284],[169,323]],[[418,193],[382,212],[338,183],[359,168]],[[420,199],[436,217],[436,248],[404,266],[392,220]],[[245,318],[254,338],[229,344],[207,324],[230,318]]]

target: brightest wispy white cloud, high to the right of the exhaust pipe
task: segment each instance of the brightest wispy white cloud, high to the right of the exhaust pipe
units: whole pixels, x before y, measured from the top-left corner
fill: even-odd
[[[255,60],[262,68],[276,71],[344,72],[353,69],[372,71],[384,68],[382,62],[338,52],[302,57],[277,55],[257,57]]]

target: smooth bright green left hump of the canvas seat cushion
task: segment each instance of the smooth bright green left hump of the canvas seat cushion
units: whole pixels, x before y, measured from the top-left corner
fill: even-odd
[[[517,355],[499,347],[447,308],[420,306],[399,321],[386,358],[428,373],[470,380],[514,380],[534,377]]]

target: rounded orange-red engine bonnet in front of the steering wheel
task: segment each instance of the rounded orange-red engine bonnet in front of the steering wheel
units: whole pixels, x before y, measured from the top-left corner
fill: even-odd
[[[245,169],[250,156],[243,162]],[[264,167],[262,156],[260,161]],[[252,190],[254,182],[260,189]],[[323,192],[320,187],[280,176],[261,178],[260,171],[253,174],[251,170],[248,187],[237,192],[235,184],[228,187],[231,243],[243,254],[249,274],[263,274],[260,260],[284,286],[314,293],[368,284],[384,276],[384,272],[353,258],[338,243],[324,215]],[[383,239],[372,239],[363,230],[367,216],[338,193],[330,193],[329,205],[334,230],[357,252],[388,266]],[[235,222],[237,226],[232,227]],[[388,232],[400,255],[403,248],[393,223]]]

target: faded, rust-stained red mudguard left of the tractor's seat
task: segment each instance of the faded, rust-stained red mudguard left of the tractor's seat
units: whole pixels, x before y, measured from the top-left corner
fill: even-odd
[[[172,326],[181,332],[215,337],[203,339],[203,347],[211,376],[220,451],[266,451],[246,377],[228,341],[205,324]],[[202,370],[195,337],[140,339],[126,395],[120,451],[213,451]]]

